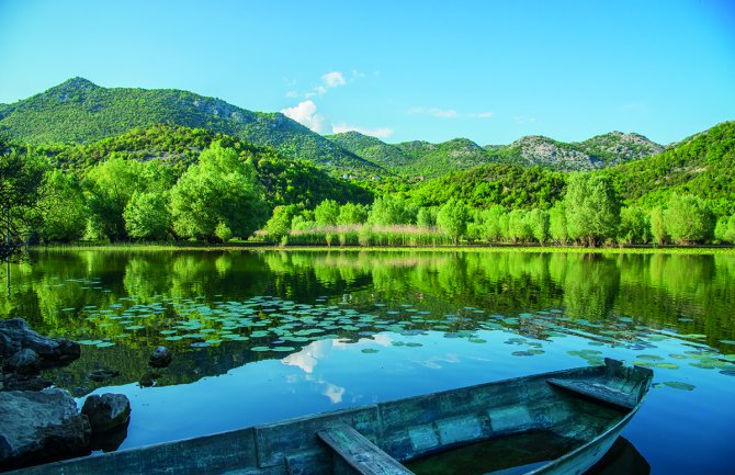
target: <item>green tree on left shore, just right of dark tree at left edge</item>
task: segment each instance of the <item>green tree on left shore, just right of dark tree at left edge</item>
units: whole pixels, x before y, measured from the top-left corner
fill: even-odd
[[[61,170],[48,171],[43,181],[38,212],[38,231],[44,242],[81,239],[89,214],[77,177]]]

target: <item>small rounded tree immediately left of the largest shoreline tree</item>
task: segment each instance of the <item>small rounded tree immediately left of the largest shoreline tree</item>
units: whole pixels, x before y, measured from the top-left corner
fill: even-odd
[[[125,230],[134,239],[166,239],[171,229],[168,196],[161,192],[135,192],[123,212]]]

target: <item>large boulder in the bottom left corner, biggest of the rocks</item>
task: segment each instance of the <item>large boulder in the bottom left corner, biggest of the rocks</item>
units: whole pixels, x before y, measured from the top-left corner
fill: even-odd
[[[0,471],[89,454],[90,432],[65,391],[0,393]]]

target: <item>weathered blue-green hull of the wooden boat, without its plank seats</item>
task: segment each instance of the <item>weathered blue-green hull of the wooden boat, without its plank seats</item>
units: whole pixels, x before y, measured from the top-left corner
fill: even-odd
[[[565,437],[584,440],[585,443],[530,473],[584,473],[602,457],[637,411],[648,391],[651,378],[649,370],[624,367],[619,362],[607,360],[604,366],[487,383],[207,437],[56,462],[12,474],[355,473],[349,467],[349,463],[340,461],[317,437],[317,432],[337,425],[353,428],[384,451],[386,456],[402,463],[480,440],[531,430],[553,430]],[[593,395],[580,395],[550,384],[550,381],[609,388],[627,395],[632,407],[596,400]]]

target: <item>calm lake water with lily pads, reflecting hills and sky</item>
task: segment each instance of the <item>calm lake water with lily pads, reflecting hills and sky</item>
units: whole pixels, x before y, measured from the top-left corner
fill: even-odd
[[[84,344],[48,377],[131,398],[121,448],[611,357],[655,371],[623,432],[652,473],[733,472],[735,256],[44,252],[2,279],[0,317]]]

